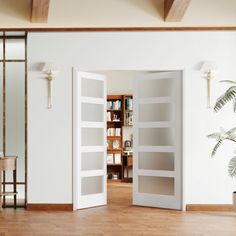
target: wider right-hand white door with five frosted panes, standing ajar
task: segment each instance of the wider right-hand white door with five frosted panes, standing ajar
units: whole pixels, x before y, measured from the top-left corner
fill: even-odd
[[[150,73],[134,93],[133,204],[182,208],[182,72]]]

